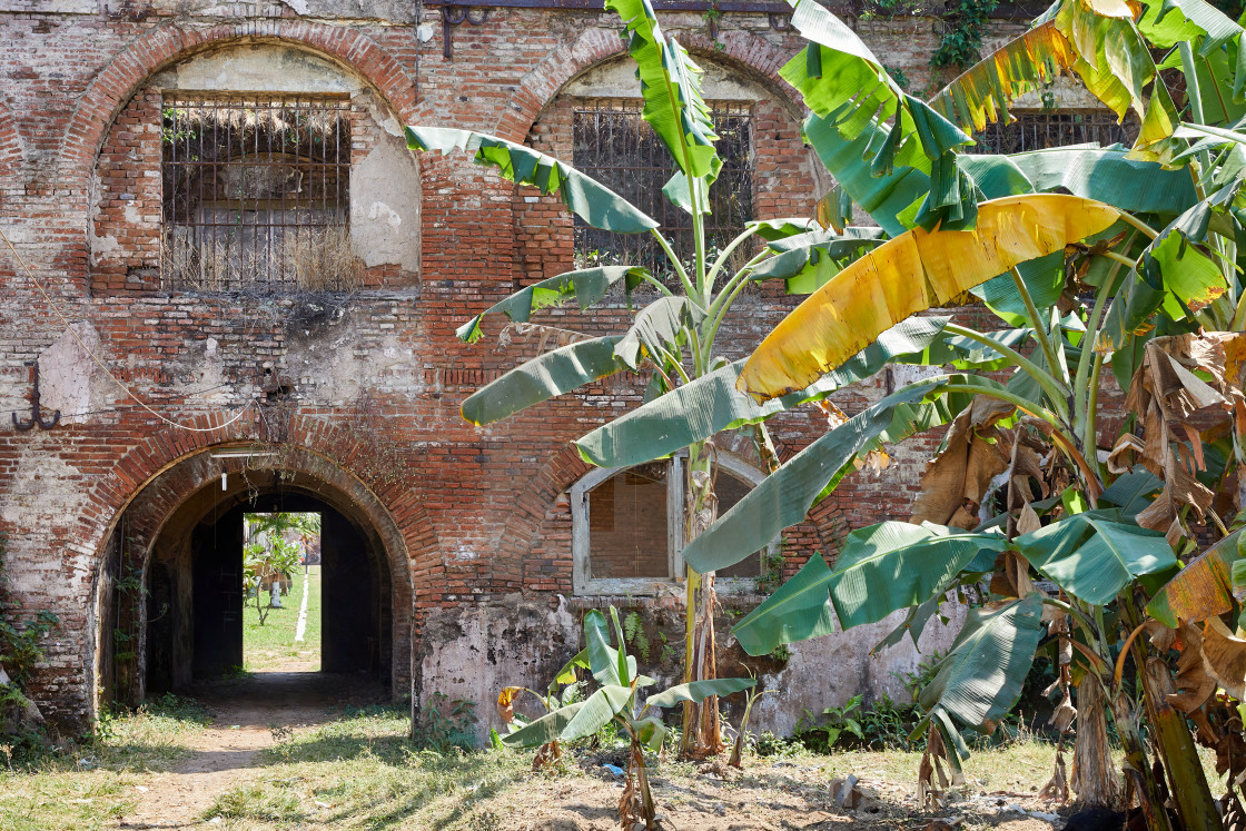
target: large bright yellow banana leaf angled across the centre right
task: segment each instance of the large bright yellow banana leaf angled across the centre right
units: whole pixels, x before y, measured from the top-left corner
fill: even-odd
[[[906,232],[796,306],[753,353],[736,386],[759,401],[804,389],[905,318],[1119,218],[1101,202],[1038,193],[983,202],[972,230]]]

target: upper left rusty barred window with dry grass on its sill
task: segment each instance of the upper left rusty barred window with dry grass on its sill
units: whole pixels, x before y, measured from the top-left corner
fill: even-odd
[[[350,101],[166,96],[167,288],[335,290],[359,283],[350,243]]]

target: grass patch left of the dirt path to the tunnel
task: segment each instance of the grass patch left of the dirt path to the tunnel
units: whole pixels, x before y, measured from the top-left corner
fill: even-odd
[[[115,827],[147,776],[188,756],[187,740],[209,721],[189,699],[164,695],[106,720],[95,743],[47,755],[29,770],[19,762],[9,767],[0,745],[0,831]]]

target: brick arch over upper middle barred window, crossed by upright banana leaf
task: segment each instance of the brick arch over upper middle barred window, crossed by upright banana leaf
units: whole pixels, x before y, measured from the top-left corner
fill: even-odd
[[[718,42],[701,32],[682,31],[678,40],[689,52],[705,55],[715,61],[735,64],[768,86],[784,92],[785,103],[799,100],[796,91],[779,77],[779,70],[791,57],[773,44],[750,31],[723,32]],[[719,49],[721,46],[721,49]],[[523,142],[541,111],[576,76],[596,64],[625,54],[618,32],[608,29],[588,29],[572,44],[549,52],[540,65],[528,72],[520,87],[502,110],[495,132],[502,138]],[[694,55],[695,57],[695,55]]]

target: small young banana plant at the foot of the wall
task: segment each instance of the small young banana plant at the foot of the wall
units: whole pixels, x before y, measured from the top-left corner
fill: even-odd
[[[670,709],[685,701],[704,701],[710,696],[731,695],[749,689],[756,680],[719,678],[689,681],[649,695],[645,690],[657,681],[637,672],[635,658],[627,654],[618,609],[612,605],[609,614],[609,622],[597,609],[584,615],[586,645],[558,672],[556,679],[556,683],[574,683],[577,672],[587,669],[597,681],[597,689],[583,701],[558,700],[543,716],[522,726],[516,725],[512,733],[502,736],[502,744],[511,748],[542,748],[545,754],[547,748],[591,736],[614,724],[628,739],[628,771],[618,806],[619,825],[630,829],[635,822],[644,822],[644,827],[652,830],[658,827],[657,806],[649,786],[644,751],[657,753],[667,738],[667,726],[660,714],[653,710]],[[505,705],[511,706],[511,691],[518,689],[521,688],[507,688],[498,700],[506,699]]]

